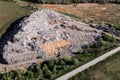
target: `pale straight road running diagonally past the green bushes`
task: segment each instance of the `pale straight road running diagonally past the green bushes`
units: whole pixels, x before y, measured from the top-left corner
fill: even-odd
[[[100,57],[98,57],[98,58],[84,64],[83,66],[80,66],[77,69],[75,69],[75,70],[73,70],[73,71],[71,71],[71,72],[57,78],[56,80],[67,80],[70,77],[76,75],[77,73],[82,72],[85,69],[87,69],[87,68],[89,68],[89,67],[91,67],[91,66],[93,66],[93,65],[95,65],[95,64],[97,64],[97,63],[99,63],[99,62],[101,62],[103,60],[105,60],[106,58],[108,58],[109,56],[112,56],[113,54],[117,53],[118,51],[120,51],[120,46],[118,48],[116,48],[116,49],[114,49],[114,50],[112,50],[112,51],[110,51],[108,53],[105,53],[104,55],[102,55],[102,56],[100,56]]]

